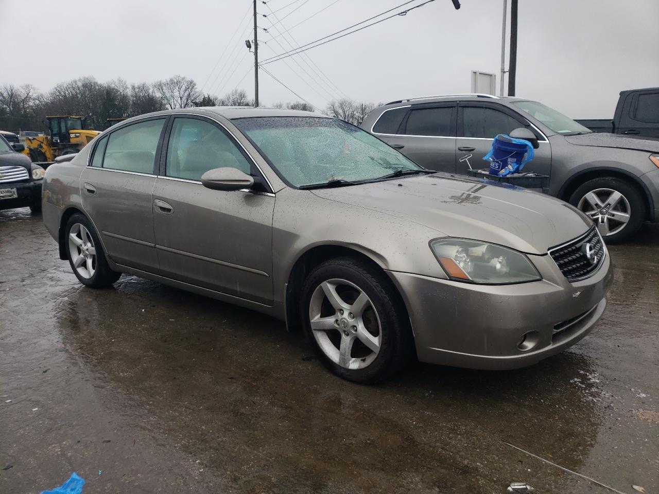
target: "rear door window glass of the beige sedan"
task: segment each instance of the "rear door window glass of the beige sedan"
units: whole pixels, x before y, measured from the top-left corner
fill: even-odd
[[[103,168],[154,173],[156,150],[164,123],[165,119],[149,120],[112,132],[107,138]]]

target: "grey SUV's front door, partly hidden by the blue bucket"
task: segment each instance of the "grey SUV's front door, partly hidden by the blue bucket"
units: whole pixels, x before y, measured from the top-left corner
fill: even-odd
[[[538,138],[538,149],[532,161],[525,165],[525,172],[550,175],[552,149],[547,138],[519,113],[494,103],[461,101],[459,103],[456,140],[457,173],[467,175],[469,169],[488,168],[483,157],[492,148],[492,140],[498,134],[510,134],[515,128],[525,127]]]

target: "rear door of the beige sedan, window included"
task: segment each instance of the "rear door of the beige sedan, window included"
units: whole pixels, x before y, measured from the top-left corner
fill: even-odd
[[[165,121],[140,121],[103,137],[80,177],[82,207],[109,258],[152,272],[158,271],[152,190]]]

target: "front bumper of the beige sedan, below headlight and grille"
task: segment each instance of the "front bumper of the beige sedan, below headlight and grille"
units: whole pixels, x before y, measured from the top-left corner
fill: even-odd
[[[407,306],[419,360],[515,369],[540,362],[585,337],[606,308],[613,281],[610,255],[596,273],[575,283],[559,273],[549,256],[533,257],[543,279],[520,285],[471,285],[387,271]],[[520,350],[520,338],[529,331],[535,332],[535,344]]]

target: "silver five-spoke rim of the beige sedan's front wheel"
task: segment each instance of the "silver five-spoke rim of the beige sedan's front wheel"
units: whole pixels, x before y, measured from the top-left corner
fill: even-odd
[[[380,317],[368,295],[345,279],[329,279],[314,290],[309,321],[316,343],[345,369],[369,366],[382,346]]]

